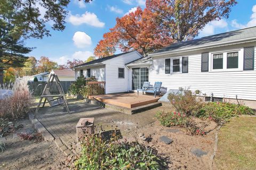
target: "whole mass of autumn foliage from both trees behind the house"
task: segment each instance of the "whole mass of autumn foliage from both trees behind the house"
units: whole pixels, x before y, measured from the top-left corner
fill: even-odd
[[[177,41],[194,39],[205,25],[228,18],[235,0],[147,0],[146,8],[116,19],[116,25],[103,35],[94,55],[113,55],[138,50],[147,55]]]

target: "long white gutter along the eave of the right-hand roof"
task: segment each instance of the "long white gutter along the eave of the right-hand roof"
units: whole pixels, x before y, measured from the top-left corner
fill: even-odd
[[[155,56],[163,56],[166,54],[179,54],[183,52],[192,52],[195,50],[201,50],[201,49],[208,49],[213,47],[223,47],[223,46],[229,46],[229,45],[236,45],[236,44],[242,44],[242,43],[252,43],[256,41],[256,37],[252,38],[245,38],[245,39],[239,39],[239,40],[233,40],[233,41],[225,41],[222,43],[215,43],[215,44],[209,44],[209,45],[202,45],[202,46],[195,46],[191,48],[184,48],[184,49],[177,49],[177,50],[169,50],[166,52],[160,52],[160,53],[153,53],[149,54],[148,56],[155,57]]]

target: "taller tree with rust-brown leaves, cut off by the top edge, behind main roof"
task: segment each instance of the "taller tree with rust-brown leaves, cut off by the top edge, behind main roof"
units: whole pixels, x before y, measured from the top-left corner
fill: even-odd
[[[186,41],[211,21],[228,18],[236,0],[147,0],[159,27],[168,29],[175,41]]]

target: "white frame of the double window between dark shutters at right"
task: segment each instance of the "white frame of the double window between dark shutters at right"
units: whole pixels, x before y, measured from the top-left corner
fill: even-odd
[[[227,69],[227,53],[238,52],[238,68]],[[213,55],[214,54],[223,54],[223,69],[213,69]],[[209,72],[230,72],[230,71],[243,71],[244,64],[244,49],[230,49],[230,50],[220,50],[216,52],[209,53]]]

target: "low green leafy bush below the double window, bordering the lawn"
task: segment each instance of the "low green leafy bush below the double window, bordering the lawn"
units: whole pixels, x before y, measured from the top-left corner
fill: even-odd
[[[231,117],[243,114],[253,114],[253,110],[244,105],[210,102],[204,105],[197,117],[210,118],[220,124],[227,122]]]

